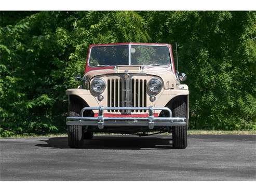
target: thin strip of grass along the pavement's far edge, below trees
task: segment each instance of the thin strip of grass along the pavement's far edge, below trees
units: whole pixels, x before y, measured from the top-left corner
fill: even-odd
[[[169,133],[161,133],[162,135],[168,135]],[[247,130],[247,131],[217,131],[217,130],[187,130],[188,135],[195,135],[195,134],[214,134],[214,135],[256,135],[256,130]],[[115,134],[115,133],[95,133],[95,135],[122,135],[122,134]],[[17,139],[17,138],[53,138],[53,137],[62,137],[68,136],[68,134],[60,133],[60,134],[45,134],[45,135],[14,135],[9,136],[8,139]],[[7,139],[3,138],[2,136],[0,139]]]

